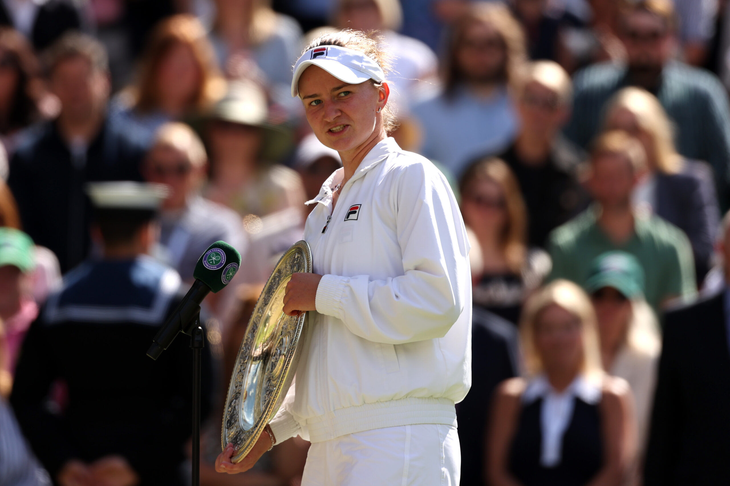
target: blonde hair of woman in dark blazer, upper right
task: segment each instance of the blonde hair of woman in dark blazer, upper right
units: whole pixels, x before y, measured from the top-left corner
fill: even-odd
[[[672,140],[672,122],[656,96],[640,87],[623,88],[607,103],[604,125],[618,109],[631,112],[639,129],[651,137],[658,171],[667,174],[679,172],[682,157],[677,154]]]

